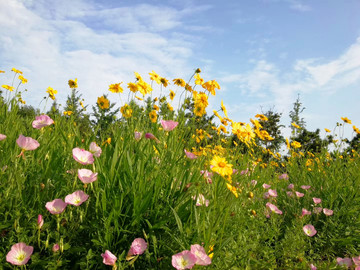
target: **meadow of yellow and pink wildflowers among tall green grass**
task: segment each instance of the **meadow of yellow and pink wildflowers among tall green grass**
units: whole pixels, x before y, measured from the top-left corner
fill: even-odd
[[[135,72],[91,108],[73,78],[33,108],[24,76],[0,71],[0,269],[360,269],[350,119],[320,137],[298,99],[285,138],[272,110],[231,119],[200,69]]]

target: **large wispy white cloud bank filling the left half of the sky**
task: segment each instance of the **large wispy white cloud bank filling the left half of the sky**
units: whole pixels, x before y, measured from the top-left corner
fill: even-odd
[[[180,30],[166,32],[185,27],[189,14],[210,8],[141,4],[107,9],[86,1],[51,3],[0,2],[2,69],[25,72],[29,92],[24,99],[36,107],[48,86],[59,91],[57,97],[64,103],[67,81],[75,77],[86,103],[94,104],[102,93],[109,93],[109,84],[133,81],[133,71],[144,77],[151,70],[168,78],[188,75],[198,38]]]

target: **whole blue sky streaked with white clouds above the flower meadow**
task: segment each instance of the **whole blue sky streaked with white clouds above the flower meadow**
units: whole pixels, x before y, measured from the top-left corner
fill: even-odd
[[[324,135],[341,117],[360,127],[360,1],[0,0],[1,85],[13,67],[37,108],[49,86],[64,104],[69,79],[91,108],[103,94],[119,103],[109,85],[134,71],[150,82],[200,68],[221,87],[208,113],[223,100],[234,121],[272,109],[289,126],[299,95],[307,129]]]

